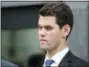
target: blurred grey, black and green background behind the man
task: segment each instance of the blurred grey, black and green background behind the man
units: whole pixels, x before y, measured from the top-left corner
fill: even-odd
[[[57,1],[57,0],[55,0]],[[26,67],[27,59],[41,53],[38,40],[38,11],[47,2],[1,2],[1,56]],[[89,2],[66,2],[74,14],[74,27],[68,39],[73,54],[89,61]]]

